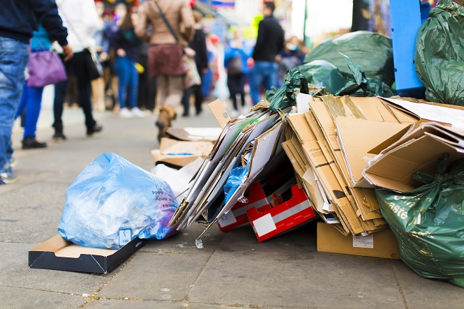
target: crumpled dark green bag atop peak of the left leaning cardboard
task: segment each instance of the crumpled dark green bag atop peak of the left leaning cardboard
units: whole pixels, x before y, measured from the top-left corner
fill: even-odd
[[[308,82],[304,75],[299,71],[287,70],[287,75],[280,89],[273,87],[266,92],[266,100],[270,101],[269,110],[285,110],[285,108],[297,104],[296,93],[309,93]]]

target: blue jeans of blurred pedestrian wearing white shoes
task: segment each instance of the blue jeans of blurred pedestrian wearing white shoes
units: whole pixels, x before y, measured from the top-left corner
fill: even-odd
[[[135,61],[127,56],[117,56],[114,61],[114,70],[118,77],[119,106],[126,107],[129,103],[130,108],[137,107],[137,96],[139,89],[139,73],[135,68]]]

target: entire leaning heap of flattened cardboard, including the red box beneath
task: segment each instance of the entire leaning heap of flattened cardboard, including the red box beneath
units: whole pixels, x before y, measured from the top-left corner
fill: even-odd
[[[226,231],[250,222],[263,241],[318,213],[345,236],[368,236],[388,229],[376,186],[417,188],[413,172],[433,172],[443,152],[452,161],[464,146],[464,112],[433,103],[300,93],[297,107],[278,113],[257,105],[231,120],[220,101],[211,110],[223,131],[171,220],[179,229],[199,222],[205,232],[216,223]],[[226,197],[237,167],[246,173]],[[291,175],[280,175],[283,169]],[[262,183],[276,175],[280,185],[266,192]]]

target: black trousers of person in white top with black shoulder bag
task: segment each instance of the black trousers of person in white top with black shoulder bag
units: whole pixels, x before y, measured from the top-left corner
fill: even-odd
[[[60,55],[63,59],[63,55]],[[73,58],[70,61],[63,61],[66,68],[66,73],[68,76],[74,74],[76,77],[77,83],[77,104],[82,107],[82,111],[85,116],[85,126],[88,129],[95,126],[96,121],[93,120],[92,115],[92,103],[91,103],[91,84],[89,75],[87,74],[87,68],[85,66],[85,53],[76,52]],[[55,84],[55,97],[53,103],[53,115],[55,128],[62,128],[63,121],[61,116],[63,116],[63,103],[66,98],[66,91],[68,90],[68,81],[59,82]]]

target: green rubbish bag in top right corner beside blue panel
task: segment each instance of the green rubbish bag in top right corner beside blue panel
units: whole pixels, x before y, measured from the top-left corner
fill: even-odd
[[[414,63],[426,99],[464,106],[464,7],[441,0],[417,32]]]

